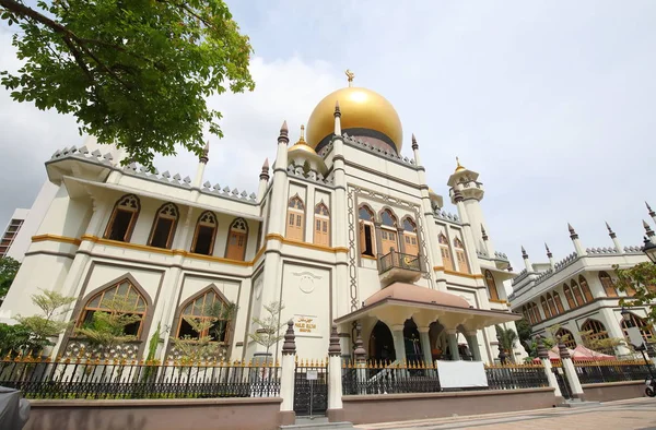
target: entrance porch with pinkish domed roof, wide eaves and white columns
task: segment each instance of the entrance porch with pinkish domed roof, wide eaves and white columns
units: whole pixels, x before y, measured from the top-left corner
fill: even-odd
[[[336,320],[336,323],[348,323],[356,320],[375,319],[384,322],[391,330],[397,359],[403,345],[403,324],[412,319],[420,333],[424,359],[432,361],[430,355],[429,327],[440,322],[446,330],[452,345],[452,356],[459,359],[457,353],[457,332],[465,334],[472,349],[475,359],[480,360],[477,332],[494,324],[503,324],[522,319],[522,315],[509,311],[476,309],[460,296],[440,291],[413,284],[396,282],[364,300],[364,306]],[[405,354],[401,354],[405,359]]]

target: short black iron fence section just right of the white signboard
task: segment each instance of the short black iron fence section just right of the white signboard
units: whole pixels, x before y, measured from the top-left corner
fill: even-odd
[[[544,367],[540,365],[485,366],[490,390],[517,390],[549,386]]]

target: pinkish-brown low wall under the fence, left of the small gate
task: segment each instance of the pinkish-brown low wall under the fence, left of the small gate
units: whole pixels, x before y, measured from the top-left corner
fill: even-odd
[[[30,421],[23,430],[274,430],[282,423],[281,402],[280,397],[33,399]]]

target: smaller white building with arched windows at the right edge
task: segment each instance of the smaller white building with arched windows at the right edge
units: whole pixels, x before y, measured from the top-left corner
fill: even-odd
[[[656,222],[656,214],[651,208],[648,211]],[[646,240],[654,242],[652,228],[643,224]],[[619,301],[630,295],[617,288],[613,266],[628,268],[648,259],[642,252],[642,247],[622,247],[610,226],[607,225],[607,228],[611,247],[584,248],[578,235],[570,226],[575,251],[559,262],[553,260],[548,247],[549,262],[546,263],[531,263],[526,250],[522,249],[525,268],[513,279],[509,299],[513,311],[523,313],[530,322],[534,335],[566,336],[570,347],[583,344],[582,332],[591,332],[602,338],[626,337],[626,323],[620,314],[622,307]],[[629,326],[637,324],[644,341],[655,342],[656,334],[643,320],[648,309],[632,307],[628,310],[634,320]],[[629,350],[619,346],[614,354],[626,355]]]

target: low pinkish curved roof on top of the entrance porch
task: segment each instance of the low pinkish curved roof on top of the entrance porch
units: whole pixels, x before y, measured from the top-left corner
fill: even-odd
[[[454,308],[469,308],[469,302],[460,296],[406,283],[394,283],[390,286],[383,288],[364,300],[364,306],[371,306],[385,299],[441,304]]]

